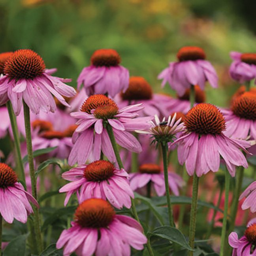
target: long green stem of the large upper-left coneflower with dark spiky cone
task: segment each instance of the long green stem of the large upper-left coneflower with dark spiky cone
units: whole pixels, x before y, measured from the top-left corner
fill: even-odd
[[[25,120],[25,130],[26,130],[26,144],[28,151],[28,164],[29,164],[29,173],[32,186],[32,196],[37,200],[36,192],[36,175],[34,170],[34,161],[33,161],[33,150],[32,150],[32,139],[31,139],[31,128],[30,128],[30,110],[28,105],[23,102],[24,108],[24,120]],[[41,253],[43,251],[43,242],[40,232],[40,217],[38,208],[35,205],[32,205],[34,211],[34,228],[36,233],[36,243],[38,246],[38,251]]]

